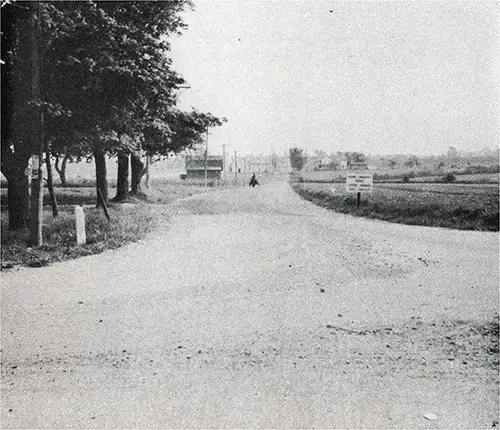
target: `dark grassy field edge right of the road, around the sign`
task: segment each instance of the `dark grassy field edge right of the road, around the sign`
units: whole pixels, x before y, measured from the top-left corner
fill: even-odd
[[[395,185],[395,184],[392,184]],[[418,189],[418,184],[399,187],[374,185],[373,193],[363,194],[357,207],[355,194],[341,184],[295,183],[293,189],[313,203],[356,216],[384,221],[446,227],[460,230],[499,230],[498,186],[436,184]],[[423,187],[423,186],[422,186]],[[446,188],[448,187],[448,188]]]

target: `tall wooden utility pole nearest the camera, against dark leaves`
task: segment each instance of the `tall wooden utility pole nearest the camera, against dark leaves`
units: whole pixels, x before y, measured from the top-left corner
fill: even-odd
[[[42,36],[42,19],[40,0],[38,0],[38,11],[35,13],[33,7],[33,32],[31,37],[31,94],[34,100],[40,100],[40,83],[42,75],[42,61],[40,55],[40,39]],[[32,246],[43,245],[42,219],[43,219],[43,110],[40,106],[38,112],[33,115],[34,127],[31,132],[31,205],[30,205],[30,239]]]

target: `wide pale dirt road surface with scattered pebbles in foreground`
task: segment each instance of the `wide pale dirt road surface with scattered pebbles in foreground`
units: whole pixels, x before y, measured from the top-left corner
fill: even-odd
[[[498,234],[193,196],[2,274],[2,428],[494,428]]]

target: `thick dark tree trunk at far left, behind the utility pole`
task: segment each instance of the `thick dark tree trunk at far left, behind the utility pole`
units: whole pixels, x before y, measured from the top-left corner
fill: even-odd
[[[27,167],[28,163],[26,163]],[[9,230],[22,230],[28,225],[29,192],[28,177],[24,174],[25,167],[15,167],[9,176],[7,204],[9,207]]]

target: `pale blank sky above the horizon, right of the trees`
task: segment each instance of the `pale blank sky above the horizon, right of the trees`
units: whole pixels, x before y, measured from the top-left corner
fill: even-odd
[[[195,1],[169,39],[209,152],[499,145],[498,2]]]

